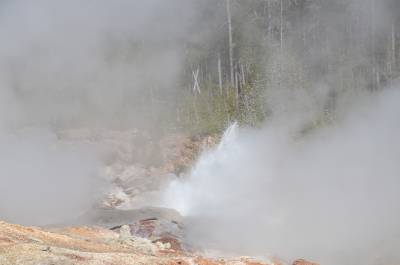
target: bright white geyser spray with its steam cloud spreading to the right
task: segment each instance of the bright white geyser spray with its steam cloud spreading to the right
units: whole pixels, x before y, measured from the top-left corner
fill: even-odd
[[[170,185],[166,204],[191,220],[189,238],[205,249],[398,262],[399,100],[397,89],[359,100],[342,120],[300,138],[282,126],[288,116],[261,130],[231,127]]]

